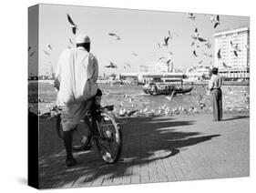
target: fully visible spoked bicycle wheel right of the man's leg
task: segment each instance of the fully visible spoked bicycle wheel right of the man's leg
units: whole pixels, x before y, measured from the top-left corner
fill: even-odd
[[[97,128],[100,137],[96,137],[97,150],[102,159],[107,163],[115,163],[121,155],[122,132],[114,117],[108,112],[101,113],[101,119],[97,120]]]

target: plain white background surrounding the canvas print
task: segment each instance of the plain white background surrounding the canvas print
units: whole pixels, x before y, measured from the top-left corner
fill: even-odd
[[[226,178],[187,182],[155,183],[104,188],[72,188],[66,192],[251,192],[255,183],[255,20],[253,1],[142,1],[142,0],[7,0],[1,2],[1,192],[32,192],[26,186],[26,110],[27,110],[27,7],[37,3],[89,5],[117,8],[196,12],[222,15],[251,16],[251,178]],[[4,106],[4,107],[3,107]],[[254,119],[254,120],[253,120]],[[223,128],[224,129],[224,128]],[[49,190],[52,191],[52,190]]]

